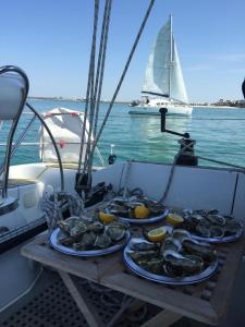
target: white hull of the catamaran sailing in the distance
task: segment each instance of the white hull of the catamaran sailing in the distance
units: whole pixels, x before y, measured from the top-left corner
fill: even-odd
[[[188,106],[166,106],[168,116],[192,116],[193,107]],[[160,116],[160,107],[137,106],[130,109],[130,114]]]

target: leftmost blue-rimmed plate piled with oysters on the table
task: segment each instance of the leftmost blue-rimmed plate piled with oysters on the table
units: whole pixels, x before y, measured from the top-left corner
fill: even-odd
[[[128,225],[122,221],[103,223],[81,217],[58,221],[50,237],[51,245],[76,256],[100,256],[122,249],[130,240]]]

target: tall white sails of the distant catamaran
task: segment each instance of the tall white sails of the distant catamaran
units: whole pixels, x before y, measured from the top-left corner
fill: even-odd
[[[188,102],[171,16],[158,33],[148,59],[142,92]]]

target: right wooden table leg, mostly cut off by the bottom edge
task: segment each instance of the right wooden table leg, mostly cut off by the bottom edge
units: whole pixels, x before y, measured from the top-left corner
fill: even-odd
[[[150,318],[140,327],[168,327],[181,319],[183,316],[169,310],[162,310],[159,314]]]

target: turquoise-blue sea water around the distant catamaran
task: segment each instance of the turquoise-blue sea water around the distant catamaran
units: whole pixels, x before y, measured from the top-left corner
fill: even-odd
[[[85,106],[85,102],[82,101],[48,99],[30,99],[29,104],[38,112],[47,112],[56,107],[83,111]],[[99,124],[107,109],[108,105],[101,104]],[[28,109],[26,108],[25,111],[28,111]],[[172,162],[179,149],[177,140],[180,137],[160,132],[160,117],[132,117],[127,111],[127,105],[115,104],[113,106],[98,144],[105,161],[107,162],[110,145],[113,144],[118,161],[136,159]],[[23,114],[16,137],[24,130],[30,117],[30,114]],[[2,125],[0,132],[1,144],[7,142],[9,126],[8,122]],[[39,122],[35,121],[24,142],[37,142],[39,126]],[[196,155],[245,166],[245,109],[194,108],[191,118],[168,118],[167,129],[180,133],[188,132],[191,137],[196,141]],[[21,146],[11,164],[40,161],[38,150],[37,145]],[[1,160],[3,160],[3,153],[4,147],[1,146]],[[199,160],[199,165],[219,166],[204,160]]]

